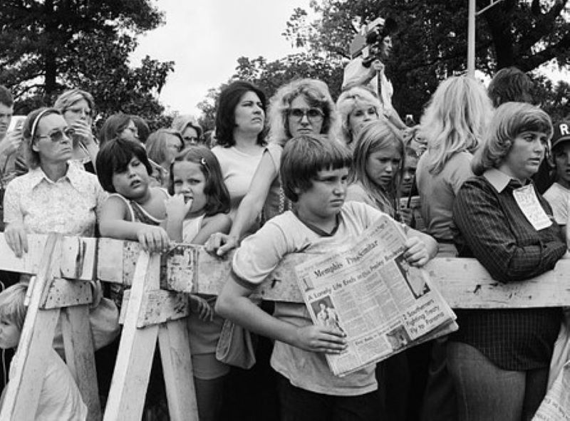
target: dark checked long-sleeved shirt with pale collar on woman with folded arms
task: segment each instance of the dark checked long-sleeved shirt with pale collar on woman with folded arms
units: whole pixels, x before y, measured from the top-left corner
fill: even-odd
[[[519,180],[488,170],[467,180],[453,204],[459,255],[475,256],[501,282],[543,274],[566,251],[549,204],[535,189],[552,224],[534,229],[514,198],[519,187]],[[451,340],[474,346],[505,370],[544,368],[549,366],[560,321],[559,308],[457,311],[460,329]]]

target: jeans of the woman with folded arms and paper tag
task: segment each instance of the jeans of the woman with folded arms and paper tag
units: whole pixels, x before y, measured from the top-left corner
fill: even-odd
[[[546,393],[549,368],[514,371],[494,365],[477,348],[447,343],[459,421],[531,420]]]

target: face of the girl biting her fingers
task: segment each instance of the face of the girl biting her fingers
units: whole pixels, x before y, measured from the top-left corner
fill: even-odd
[[[175,194],[182,194],[185,202],[192,199],[192,206],[188,214],[199,214],[207,204],[207,197],[204,194],[206,178],[202,173],[202,165],[195,162],[181,161],[175,162],[172,168]]]

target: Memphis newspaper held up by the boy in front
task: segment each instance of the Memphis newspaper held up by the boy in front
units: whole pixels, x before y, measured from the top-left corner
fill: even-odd
[[[455,313],[427,272],[404,259],[405,239],[383,215],[358,239],[296,266],[313,322],[346,333],[347,349],[326,355],[335,375],[457,330]]]

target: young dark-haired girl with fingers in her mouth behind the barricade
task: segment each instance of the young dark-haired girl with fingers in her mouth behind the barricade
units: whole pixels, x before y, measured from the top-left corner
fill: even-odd
[[[171,239],[204,244],[214,232],[229,232],[230,199],[219,162],[207,147],[192,145],[170,171],[167,232]],[[216,359],[224,319],[214,314],[215,297],[192,296],[188,317],[190,350],[200,420],[217,420],[229,366]]]

